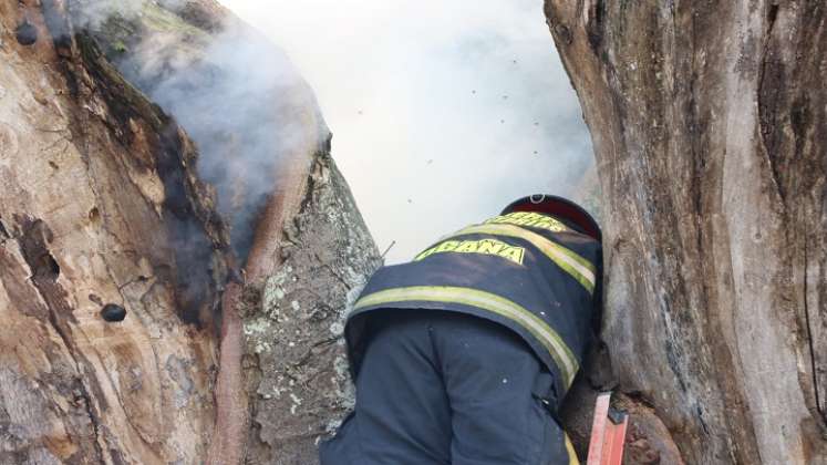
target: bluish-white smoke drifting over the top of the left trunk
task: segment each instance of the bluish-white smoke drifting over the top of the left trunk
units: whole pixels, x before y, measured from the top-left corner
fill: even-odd
[[[183,19],[192,7],[185,0],[80,6],[76,22],[95,31],[124,76],[198,145],[199,176],[216,188],[235,252],[246,260],[280,159],[306,142],[299,135],[307,131],[297,127],[302,124],[297,112],[304,108],[297,105],[307,106],[312,95],[294,66],[263,35],[236,21],[214,33],[194,27]]]

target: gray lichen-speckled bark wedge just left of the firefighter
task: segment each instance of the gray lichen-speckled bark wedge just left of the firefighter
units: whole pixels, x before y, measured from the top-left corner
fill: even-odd
[[[260,382],[250,455],[317,462],[317,442],[353,407],[343,319],[381,259],[333,161],[318,154],[301,211],[289,221],[283,265],[245,318]],[[277,454],[270,455],[271,452]]]

